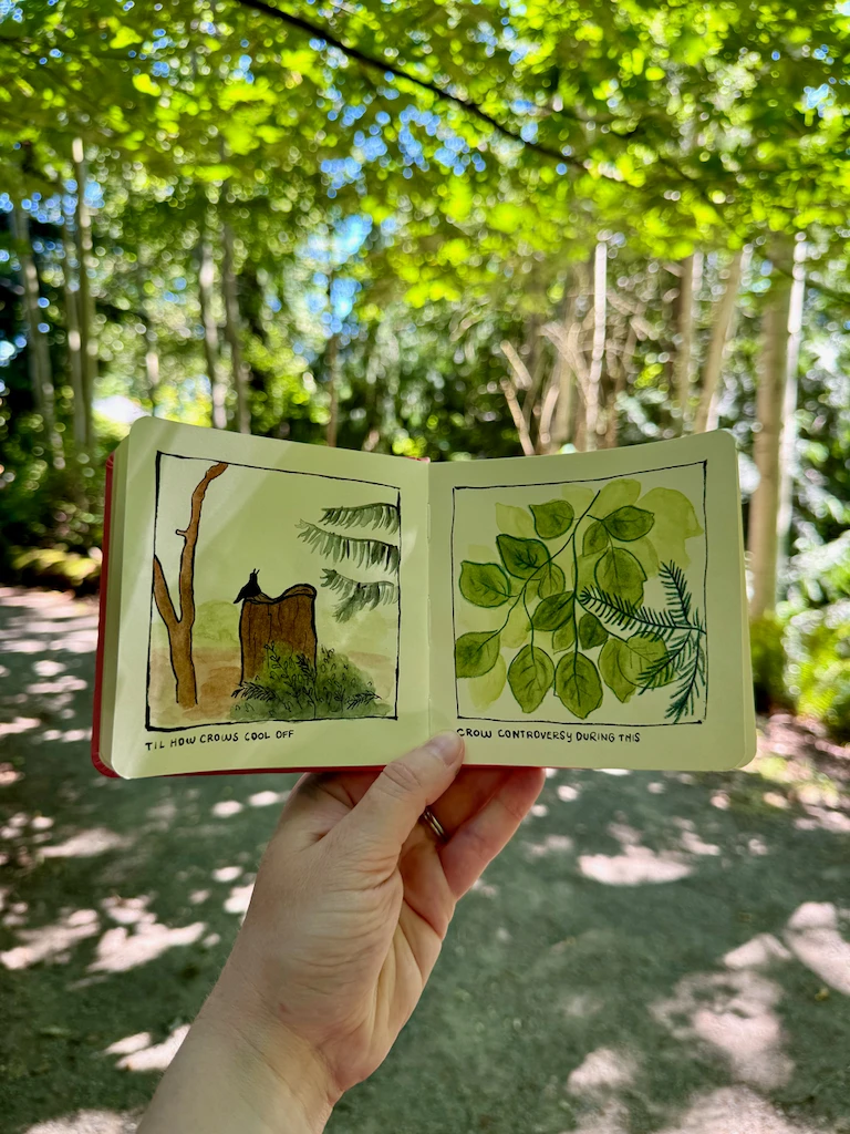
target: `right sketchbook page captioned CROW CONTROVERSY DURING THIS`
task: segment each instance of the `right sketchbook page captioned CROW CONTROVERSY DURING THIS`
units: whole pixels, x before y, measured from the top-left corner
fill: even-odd
[[[746,730],[734,443],[430,472],[432,727],[474,763],[720,769]]]

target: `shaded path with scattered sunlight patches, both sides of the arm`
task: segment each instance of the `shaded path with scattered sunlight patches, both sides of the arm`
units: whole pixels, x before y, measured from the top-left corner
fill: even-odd
[[[88,763],[92,603],[0,592],[0,1131],[133,1131],[294,777]],[[850,1132],[850,758],[559,771],[331,1134]]]

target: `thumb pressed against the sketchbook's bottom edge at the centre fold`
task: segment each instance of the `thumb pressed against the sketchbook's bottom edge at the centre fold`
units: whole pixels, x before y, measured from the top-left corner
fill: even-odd
[[[461,738],[457,733],[440,733],[386,764],[338,829],[346,828],[348,838],[367,844],[394,863],[419,815],[445,792],[462,761]]]

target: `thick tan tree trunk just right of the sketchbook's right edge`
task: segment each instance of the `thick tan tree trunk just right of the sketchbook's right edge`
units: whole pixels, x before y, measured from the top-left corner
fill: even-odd
[[[787,248],[774,254],[774,264],[785,259]],[[774,266],[763,320],[762,366],[756,396],[758,432],[754,457],[758,486],[749,511],[748,550],[753,572],[750,616],[760,618],[776,602],[776,517],[780,497],[780,451],[782,407],[788,383],[788,323],[791,280]]]

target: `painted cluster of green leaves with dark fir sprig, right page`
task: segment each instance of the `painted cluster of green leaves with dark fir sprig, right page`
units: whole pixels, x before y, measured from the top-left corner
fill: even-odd
[[[522,713],[549,699],[583,721],[609,697],[626,705],[663,689],[666,722],[694,718],[707,674],[687,575],[687,542],[704,535],[694,506],[672,488],[641,496],[627,477],[583,491],[527,509],[496,505],[492,559],[460,562],[462,601],[492,611],[492,625],[456,637],[457,678],[473,683],[478,706],[507,686]]]

